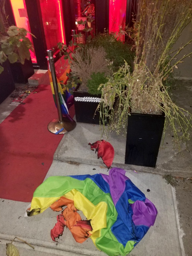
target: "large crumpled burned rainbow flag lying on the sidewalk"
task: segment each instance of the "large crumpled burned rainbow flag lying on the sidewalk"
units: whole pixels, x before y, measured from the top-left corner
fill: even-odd
[[[87,236],[90,235],[95,246],[110,256],[129,253],[154,225],[157,216],[153,203],[120,168],[112,168],[109,176],[88,174],[49,177],[35,190],[28,216],[43,212],[62,197],[72,200],[74,207],[90,220],[89,231],[85,231]],[[61,207],[60,202],[51,206],[54,210],[62,210]],[[59,218],[62,216],[59,215]],[[76,223],[79,226],[79,221]]]

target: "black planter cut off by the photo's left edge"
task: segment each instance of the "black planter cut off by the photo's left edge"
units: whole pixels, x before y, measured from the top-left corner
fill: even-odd
[[[0,74],[0,104],[15,90],[15,83],[9,66],[9,61],[3,62],[3,72]]]

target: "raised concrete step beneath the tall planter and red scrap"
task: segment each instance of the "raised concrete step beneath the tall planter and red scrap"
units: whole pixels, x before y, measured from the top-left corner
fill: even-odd
[[[90,146],[88,145],[89,142],[94,143],[100,140],[100,138],[99,125],[77,123],[76,128],[62,138],[55,152],[54,160],[103,165],[102,159],[97,159],[97,155],[90,150]],[[164,145],[159,150],[155,168],[125,164],[126,138],[124,136],[116,135],[113,132],[109,134],[108,138],[103,135],[102,139],[110,142],[114,147],[115,156],[112,167],[161,175],[172,174],[173,176],[180,177],[190,177],[192,174],[192,152],[186,151],[185,147],[180,153],[173,150],[172,137],[168,134],[165,135]],[[189,143],[191,144],[191,141]]]

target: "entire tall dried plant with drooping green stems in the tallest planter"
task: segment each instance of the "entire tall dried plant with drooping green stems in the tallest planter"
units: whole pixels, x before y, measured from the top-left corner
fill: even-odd
[[[112,75],[102,90],[99,107],[104,132],[115,130],[117,133],[126,133],[131,109],[134,113],[164,113],[164,134],[170,125],[175,142],[186,142],[189,139],[191,114],[172,101],[164,81],[177,68],[178,63],[192,54],[177,59],[177,55],[192,39],[173,50],[182,30],[192,21],[191,13],[192,3],[186,0],[140,1],[133,73],[125,62],[125,66]],[[114,95],[118,98],[118,104],[116,109],[112,107],[109,111],[108,106],[112,106]],[[106,116],[110,120],[107,127]]]

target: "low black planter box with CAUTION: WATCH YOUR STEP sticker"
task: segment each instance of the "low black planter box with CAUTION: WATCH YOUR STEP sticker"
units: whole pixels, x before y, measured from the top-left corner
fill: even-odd
[[[92,95],[88,92],[77,91],[78,88],[79,86],[73,91],[76,121],[99,124],[100,113],[96,109],[101,101],[101,95]]]

